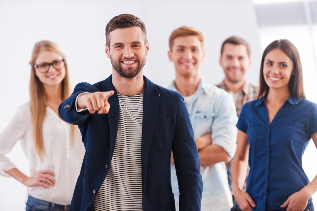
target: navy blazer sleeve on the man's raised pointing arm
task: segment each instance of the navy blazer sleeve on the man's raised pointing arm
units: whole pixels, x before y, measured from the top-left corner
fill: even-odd
[[[59,117],[70,124],[78,125],[79,127],[86,124],[90,113],[86,111],[77,112],[76,111],[76,97],[83,92],[97,92],[100,91],[95,86],[82,82],[75,86],[74,92],[70,97],[68,97],[64,102],[62,102],[58,107]]]

